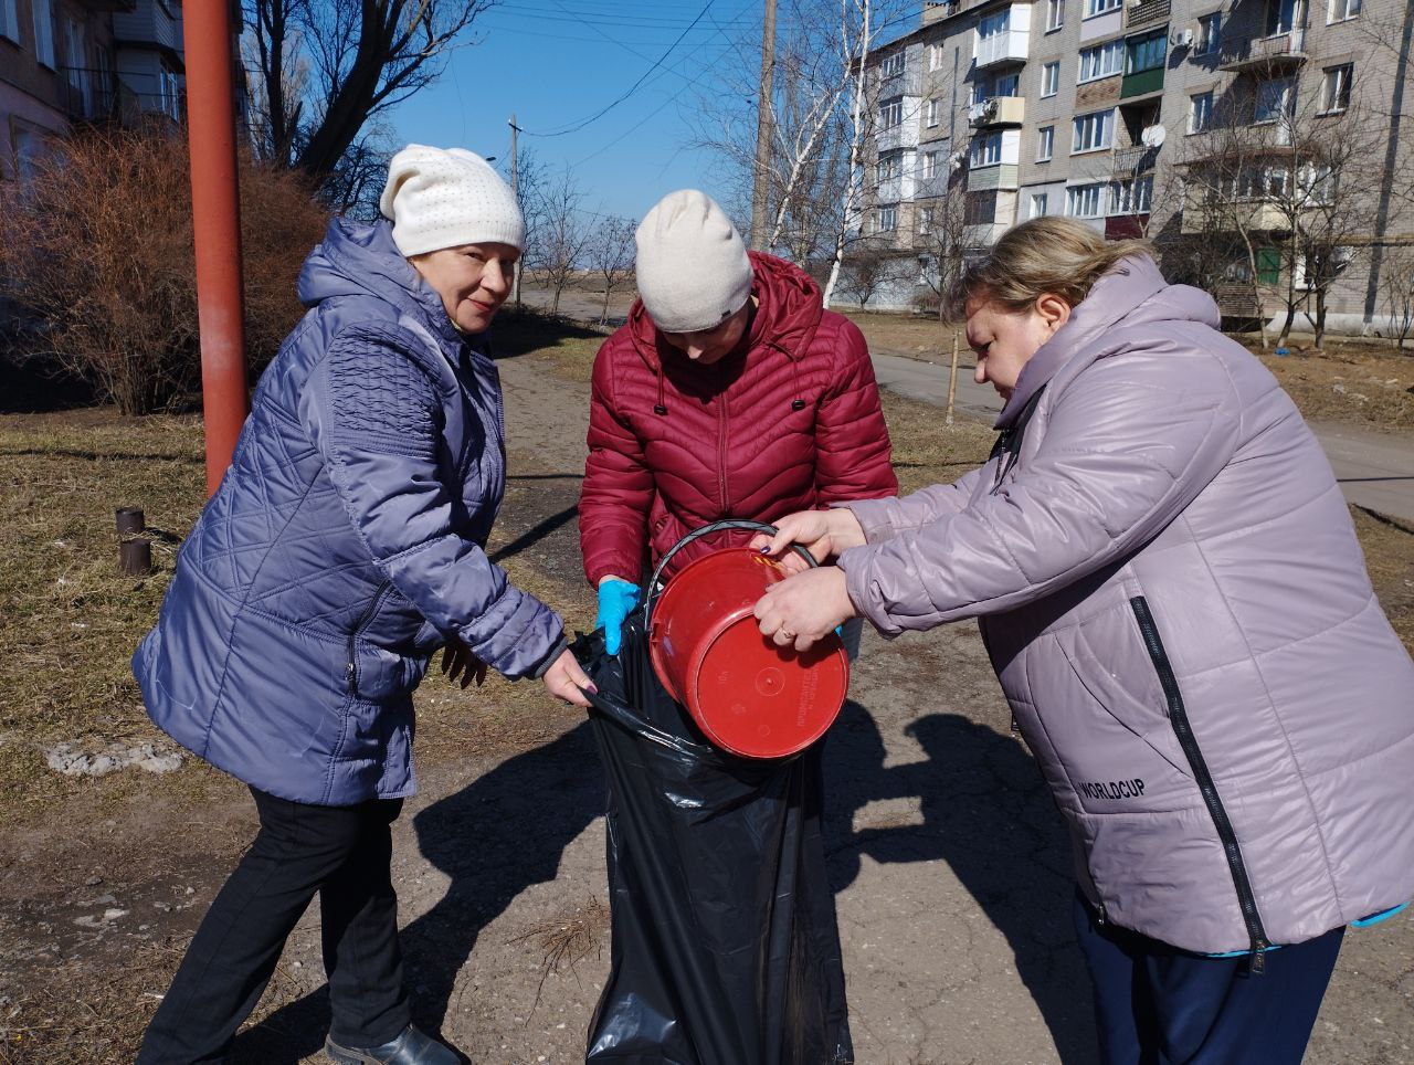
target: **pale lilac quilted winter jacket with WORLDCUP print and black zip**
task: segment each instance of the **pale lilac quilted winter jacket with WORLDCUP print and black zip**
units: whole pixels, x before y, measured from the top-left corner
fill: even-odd
[[[981,619],[1104,916],[1260,952],[1414,895],[1414,663],[1319,444],[1217,321],[1124,260],[998,453],[848,504],[840,566],[885,634]]]

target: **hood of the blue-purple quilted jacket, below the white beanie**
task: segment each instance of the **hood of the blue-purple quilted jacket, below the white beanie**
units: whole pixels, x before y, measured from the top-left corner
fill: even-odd
[[[441,298],[423,281],[393,243],[386,221],[362,225],[335,218],[324,240],[315,245],[300,269],[300,303],[315,307],[324,300],[372,296],[421,318],[433,332],[452,342],[465,339],[447,317]]]

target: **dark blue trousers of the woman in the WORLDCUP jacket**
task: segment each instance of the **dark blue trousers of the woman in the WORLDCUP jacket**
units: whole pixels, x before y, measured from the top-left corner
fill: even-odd
[[[1247,958],[1205,958],[1113,925],[1080,895],[1075,931],[1094,982],[1106,1065],[1297,1065],[1345,928]]]

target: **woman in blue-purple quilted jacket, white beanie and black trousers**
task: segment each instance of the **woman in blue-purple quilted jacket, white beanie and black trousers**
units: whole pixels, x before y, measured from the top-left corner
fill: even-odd
[[[506,477],[485,334],[520,209],[485,160],[420,144],[393,157],[382,209],[337,219],[305,260],[310,310],[133,656],[153,721],[260,816],[143,1065],[223,1059],[315,894],[328,1055],[460,1061],[411,1024],[397,945],[389,826],[416,791],[413,690],[445,645],[454,676],[489,666],[587,704],[560,618],[485,553]]]

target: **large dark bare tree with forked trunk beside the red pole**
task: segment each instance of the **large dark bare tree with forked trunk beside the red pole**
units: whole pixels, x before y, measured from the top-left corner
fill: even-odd
[[[334,204],[366,190],[369,119],[434,81],[495,0],[245,0],[252,134]]]

